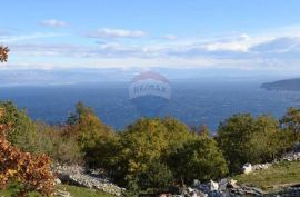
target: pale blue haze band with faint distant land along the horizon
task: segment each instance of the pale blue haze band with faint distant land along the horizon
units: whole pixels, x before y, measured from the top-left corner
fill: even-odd
[[[299,77],[300,73],[284,73],[229,68],[152,68],[152,69],[0,69],[1,86],[46,86],[76,83],[118,83],[130,82],[134,76],[144,71],[158,72],[170,81],[180,82],[270,82]]]

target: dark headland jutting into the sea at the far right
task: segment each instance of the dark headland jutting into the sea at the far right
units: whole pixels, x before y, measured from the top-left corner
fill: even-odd
[[[300,78],[266,82],[261,85],[266,90],[300,91]]]

